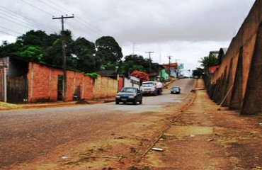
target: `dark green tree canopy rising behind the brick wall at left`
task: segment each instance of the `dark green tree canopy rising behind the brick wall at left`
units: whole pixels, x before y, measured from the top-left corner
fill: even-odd
[[[85,73],[115,69],[123,57],[121,47],[112,37],[98,38],[96,44],[85,38],[73,40],[70,30],[64,30],[64,37],[67,69]],[[0,56],[8,55],[62,67],[62,33],[47,35],[42,30],[30,30],[18,37],[16,42],[2,43]]]

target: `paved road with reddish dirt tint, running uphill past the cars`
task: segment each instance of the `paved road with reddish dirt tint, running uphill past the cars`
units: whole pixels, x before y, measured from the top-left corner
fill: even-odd
[[[182,103],[193,82],[194,79],[175,81],[173,85],[181,86],[180,95],[170,94],[169,89],[165,89],[160,96],[145,96],[143,104],[137,106],[111,102],[0,111],[0,168],[28,162],[74,140],[84,140],[86,134],[89,140],[96,142],[112,132],[112,128],[116,131],[118,126],[130,123],[134,117],[128,115],[135,114],[139,119],[140,113],[161,111],[164,106]]]

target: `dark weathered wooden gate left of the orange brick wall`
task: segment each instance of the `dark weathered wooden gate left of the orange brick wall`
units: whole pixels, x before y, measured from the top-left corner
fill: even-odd
[[[8,103],[23,103],[28,98],[28,81],[26,77],[6,77],[6,94]]]

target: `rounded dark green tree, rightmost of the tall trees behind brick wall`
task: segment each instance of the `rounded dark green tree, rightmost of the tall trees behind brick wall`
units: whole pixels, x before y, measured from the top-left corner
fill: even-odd
[[[113,37],[103,36],[96,40],[96,57],[100,60],[101,69],[115,69],[123,58],[118,42]]]

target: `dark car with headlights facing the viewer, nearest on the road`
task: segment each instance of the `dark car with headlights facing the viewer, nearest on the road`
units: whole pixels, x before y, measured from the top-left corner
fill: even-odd
[[[118,94],[115,96],[115,104],[119,104],[120,102],[128,103],[131,102],[133,104],[142,104],[143,95],[142,91],[135,87],[123,87]]]

